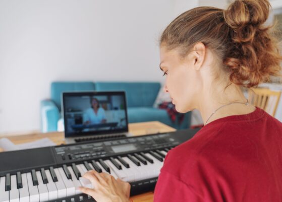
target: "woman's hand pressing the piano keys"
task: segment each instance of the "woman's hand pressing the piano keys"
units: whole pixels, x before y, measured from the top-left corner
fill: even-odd
[[[121,179],[115,179],[107,173],[98,173],[90,170],[83,175],[90,180],[93,189],[79,187],[79,189],[97,202],[129,202],[130,184]]]

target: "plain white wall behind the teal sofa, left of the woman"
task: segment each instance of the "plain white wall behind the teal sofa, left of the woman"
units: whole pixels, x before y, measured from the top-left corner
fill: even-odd
[[[173,0],[0,0],[0,133],[38,130],[52,81],[161,81]]]

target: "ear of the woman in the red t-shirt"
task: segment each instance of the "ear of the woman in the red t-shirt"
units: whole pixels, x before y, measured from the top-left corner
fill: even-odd
[[[203,43],[199,42],[194,45],[192,53],[193,65],[195,70],[200,70],[204,63],[206,47]]]

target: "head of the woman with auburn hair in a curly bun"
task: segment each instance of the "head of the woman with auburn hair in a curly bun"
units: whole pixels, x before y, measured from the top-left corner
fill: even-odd
[[[264,26],[269,9],[267,0],[237,0],[227,10],[189,10],[166,27],[160,67],[178,111],[192,110],[203,88],[256,87],[279,74],[278,44]]]

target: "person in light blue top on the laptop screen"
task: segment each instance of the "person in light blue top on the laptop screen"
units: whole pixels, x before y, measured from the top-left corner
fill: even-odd
[[[105,123],[105,110],[100,107],[98,99],[92,97],[90,99],[90,105],[91,107],[84,111],[83,123],[85,125]]]

